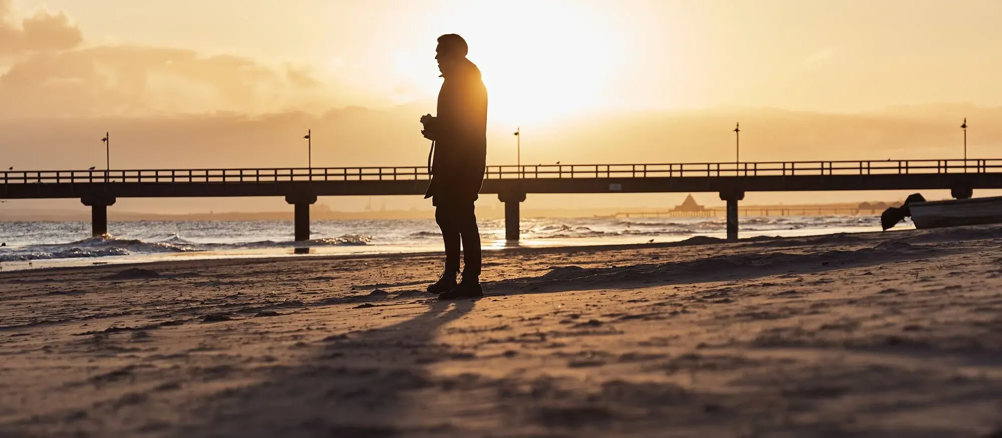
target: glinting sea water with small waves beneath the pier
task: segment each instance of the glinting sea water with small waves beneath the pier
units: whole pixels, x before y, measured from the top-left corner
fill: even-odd
[[[485,250],[678,242],[696,236],[723,238],[722,217],[524,218],[517,245],[505,242],[504,221],[480,221]],[[907,228],[907,227],[897,227]],[[0,223],[0,269],[90,266],[161,260],[334,254],[437,252],[442,238],[434,220],[314,221],[308,242],[294,242],[292,222],[109,223],[111,236],[87,238],[90,224]],[[880,231],[874,215],[742,216],[741,238],[817,236]],[[299,251],[297,251],[299,249]],[[309,249],[309,250],[304,250]]]

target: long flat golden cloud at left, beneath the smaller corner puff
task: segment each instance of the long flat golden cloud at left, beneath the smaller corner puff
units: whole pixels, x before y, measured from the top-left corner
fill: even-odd
[[[142,46],[35,53],[0,76],[7,115],[257,113],[335,97],[307,69]]]

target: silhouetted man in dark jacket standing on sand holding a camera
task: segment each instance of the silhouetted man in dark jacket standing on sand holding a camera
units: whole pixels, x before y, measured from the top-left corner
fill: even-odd
[[[438,38],[435,59],[440,77],[437,115],[421,117],[425,138],[434,141],[431,183],[425,198],[435,205],[435,222],[445,243],[445,271],[428,292],[439,299],[482,297],[480,287],[480,233],[473,202],[484,180],[487,156],[487,88],[480,69],[466,59],[463,37]],[[463,247],[462,281],[459,274],[460,242]]]

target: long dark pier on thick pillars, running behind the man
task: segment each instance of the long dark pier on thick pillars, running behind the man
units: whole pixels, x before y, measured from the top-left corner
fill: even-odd
[[[422,195],[425,166],[14,170],[0,198],[78,198],[91,207],[94,236],[121,197],[284,196],[296,241],[310,239],[317,196]],[[531,193],[716,192],[726,202],[727,239],[737,239],[738,202],[749,191],[1002,188],[1002,158],[879,161],[768,161],[487,166],[480,192],[505,203],[505,236],[517,241],[519,205]]]

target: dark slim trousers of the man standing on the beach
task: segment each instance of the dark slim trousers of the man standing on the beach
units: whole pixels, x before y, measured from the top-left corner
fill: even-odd
[[[435,207],[435,222],[445,242],[445,269],[459,271],[459,244],[463,243],[463,277],[480,276],[480,232],[473,202],[449,202]]]

